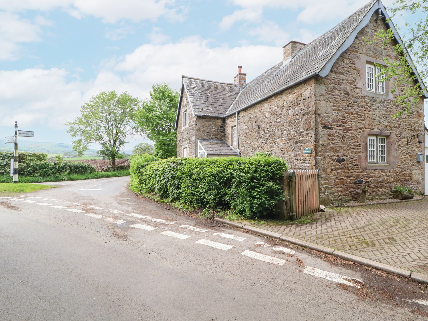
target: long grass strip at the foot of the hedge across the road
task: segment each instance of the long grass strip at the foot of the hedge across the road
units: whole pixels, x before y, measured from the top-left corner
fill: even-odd
[[[19,176],[18,181],[20,183],[45,183],[50,181],[80,181],[82,179],[94,179],[94,178],[109,178],[128,176],[129,170],[118,170],[116,172],[93,172],[90,174],[72,174],[72,175],[52,175],[48,177],[30,177],[30,176]],[[12,183],[13,179],[9,175],[1,175],[0,183]],[[16,184],[15,184],[16,185]]]

